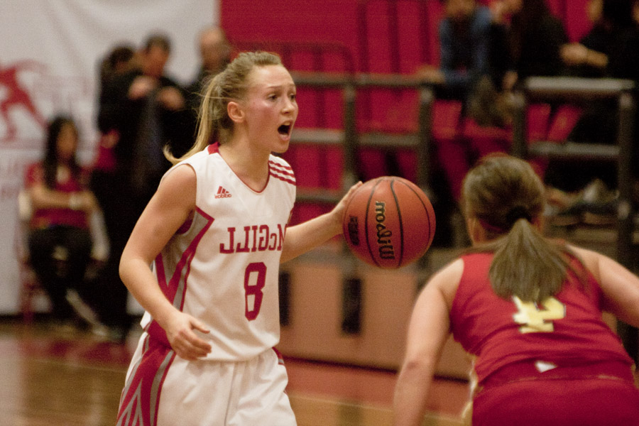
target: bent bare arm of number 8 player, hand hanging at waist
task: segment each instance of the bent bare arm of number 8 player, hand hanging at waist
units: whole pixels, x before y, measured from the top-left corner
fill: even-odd
[[[133,297],[167,333],[178,356],[197,359],[211,347],[192,331],[208,332],[202,323],[173,307],[149,265],[195,209],[195,172],[182,165],[165,176],[136,224],[120,262],[120,275]]]

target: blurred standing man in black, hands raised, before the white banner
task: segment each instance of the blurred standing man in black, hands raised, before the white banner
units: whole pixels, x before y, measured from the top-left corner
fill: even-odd
[[[109,259],[100,283],[100,293],[109,297],[99,312],[114,339],[124,339],[131,327],[126,312],[128,292],[118,272],[122,251],[160,177],[170,167],[163,148],[181,151],[180,144],[191,144],[185,95],[165,75],[169,57],[170,40],[165,35],[150,35],[130,58],[133,62],[126,62],[124,72],[113,70],[101,94],[99,129],[115,140],[111,170],[99,179],[94,177],[94,184],[101,188],[109,236]]]

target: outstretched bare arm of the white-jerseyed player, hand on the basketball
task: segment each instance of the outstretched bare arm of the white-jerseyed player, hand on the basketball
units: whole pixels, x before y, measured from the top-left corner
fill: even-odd
[[[357,182],[351,186],[349,191],[346,192],[346,195],[342,197],[342,200],[340,200],[330,212],[310,219],[302,224],[288,227],[286,229],[280,263],[290,261],[290,259],[296,258],[328,241],[337,234],[340,234],[342,232],[342,219],[344,218],[346,205],[361,185],[361,182]]]

